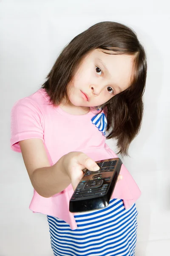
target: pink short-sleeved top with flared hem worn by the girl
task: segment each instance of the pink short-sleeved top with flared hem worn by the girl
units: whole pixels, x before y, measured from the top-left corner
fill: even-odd
[[[71,151],[82,151],[94,161],[117,157],[105,143],[105,136],[91,122],[96,113],[98,111],[90,111],[85,115],[69,114],[49,104],[49,96],[44,89],[40,89],[20,99],[12,108],[11,149],[21,152],[20,140],[39,138],[45,145],[51,165]],[[123,199],[127,209],[139,198],[141,191],[123,164],[120,174],[123,179],[116,183],[111,198]],[[74,230],[77,224],[74,214],[69,212],[69,200],[73,192],[71,184],[50,198],[44,198],[34,190],[29,209],[58,217]]]

